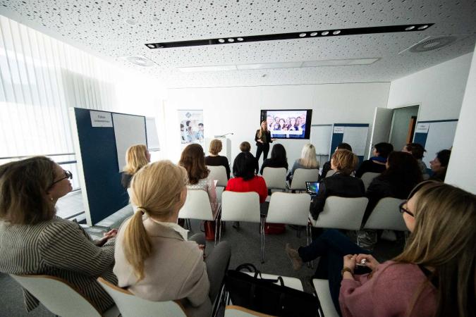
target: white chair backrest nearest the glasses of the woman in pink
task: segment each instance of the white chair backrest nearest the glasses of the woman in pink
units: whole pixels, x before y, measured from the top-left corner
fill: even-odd
[[[408,228],[398,210],[402,202],[403,199],[391,197],[380,199],[365,222],[364,229],[407,231]]]

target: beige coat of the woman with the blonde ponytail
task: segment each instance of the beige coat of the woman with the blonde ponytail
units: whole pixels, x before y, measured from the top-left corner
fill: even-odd
[[[145,260],[144,278],[138,281],[123,252],[123,228],[128,222],[123,223],[116,237],[114,273],[118,286],[150,301],[181,299],[189,316],[210,316],[212,304],[208,297],[207,266],[197,243],[186,242],[172,228],[145,219],[152,255]]]

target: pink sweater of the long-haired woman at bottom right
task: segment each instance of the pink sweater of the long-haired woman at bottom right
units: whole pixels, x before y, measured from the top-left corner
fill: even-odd
[[[386,261],[368,274],[343,279],[339,303],[344,317],[408,316],[415,292],[427,280],[415,264]],[[411,316],[431,317],[437,308],[437,290],[428,282],[413,308]]]

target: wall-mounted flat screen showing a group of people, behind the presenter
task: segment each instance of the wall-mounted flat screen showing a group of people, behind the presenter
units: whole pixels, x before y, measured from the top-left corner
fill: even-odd
[[[261,120],[266,120],[273,139],[309,139],[312,109],[262,110]]]

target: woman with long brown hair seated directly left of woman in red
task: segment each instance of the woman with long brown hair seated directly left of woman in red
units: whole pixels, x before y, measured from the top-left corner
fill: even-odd
[[[188,190],[205,190],[205,192],[208,193],[213,216],[216,216],[216,212],[218,211],[216,189],[213,180],[208,178],[210,171],[207,169],[207,166],[205,166],[202,146],[200,144],[189,144],[185,147],[182,151],[180,161],[178,161],[178,165],[187,170]]]

